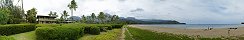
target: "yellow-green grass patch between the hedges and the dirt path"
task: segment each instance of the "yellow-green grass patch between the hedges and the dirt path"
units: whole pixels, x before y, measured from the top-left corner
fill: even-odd
[[[121,35],[121,29],[108,30],[99,35],[86,34],[78,40],[118,40]]]

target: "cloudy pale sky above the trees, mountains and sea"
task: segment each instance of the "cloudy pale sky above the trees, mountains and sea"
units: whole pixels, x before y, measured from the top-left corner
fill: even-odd
[[[71,0],[24,0],[24,10],[37,15],[50,11],[59,15]],[[137,19],[176,20],[187,24],[240,24],[244,22],[244,0],[76,0],[74,16],[105,12]],[[18,0],[14,4],[20,5]]]

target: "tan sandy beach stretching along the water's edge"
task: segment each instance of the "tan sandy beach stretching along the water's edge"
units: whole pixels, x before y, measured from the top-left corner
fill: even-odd
[[[229,36],[244,36],[244,27],[238,29],[228,28],[213,28],[212,30],[205,29],[179,29],[179,28],[166,28],[166,27],[153,27],[153,26],[139,26],[139,25],[128,25],[130,27],[152,30],[157,32],[167,32],[173,34],[186,34],[189,36],[200,36],[200,37],[229,37]],[[228,30],[229,33],[228,33]]]

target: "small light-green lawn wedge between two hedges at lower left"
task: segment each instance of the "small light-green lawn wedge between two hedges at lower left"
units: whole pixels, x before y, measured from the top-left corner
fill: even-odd
[[[10,37],[14,37],[15,40],[36,40],[35,31],[10,35]]]

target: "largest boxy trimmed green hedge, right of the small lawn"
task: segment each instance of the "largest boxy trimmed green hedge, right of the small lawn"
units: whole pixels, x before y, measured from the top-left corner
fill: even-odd
[[[36,29],[37,40],[76,40],[84,34],[83,27],[42,27]]]

